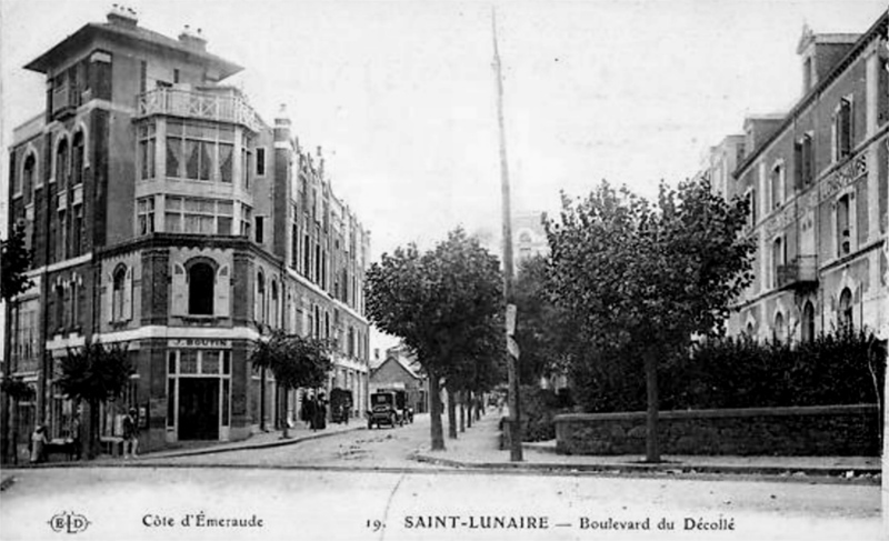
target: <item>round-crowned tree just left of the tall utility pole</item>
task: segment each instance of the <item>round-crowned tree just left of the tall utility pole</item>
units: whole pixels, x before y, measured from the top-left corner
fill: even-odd
[[[431,443],[444,449],[440,389],[472,357],[479,328],[502,311],[499,262],[462,229],[423,254],[409,244],[368,270],[367,313],[417,353],[429,378]]]

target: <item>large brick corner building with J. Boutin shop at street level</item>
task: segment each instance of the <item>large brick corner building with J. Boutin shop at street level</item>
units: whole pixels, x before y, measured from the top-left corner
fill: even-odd
[[[19,441],[38,422],[67,435],[76,404],[54,381],[88,340],[126,343],[137,369],[101,433],[134,407],[149,450],[298,419],[301,391],[249,362],[274,328],[334,341],[326,390],[352,391],[360,414],[369,234],[320,148],[302,149],[283,111],[267,124],[199,31],[168,38],[124,8],[26,69],[46,76],[47,106],[9,151],[10,224],[34,250],[34,285],[7,307],[3,374],[36,391],[12,412]]]

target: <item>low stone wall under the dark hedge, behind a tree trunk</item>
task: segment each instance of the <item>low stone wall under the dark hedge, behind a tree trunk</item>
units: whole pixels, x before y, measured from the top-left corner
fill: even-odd
[[[805,408],[662,411],[663,454],[880,454],[879,408],[870,404]],[[646,413],[571,413],[556,417],[562,454],[645,454]]]

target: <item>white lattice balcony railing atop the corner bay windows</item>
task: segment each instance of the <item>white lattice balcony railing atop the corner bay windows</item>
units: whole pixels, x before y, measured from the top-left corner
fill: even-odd
[[[139,94],[137,114],[170,114],[173,117],[231,122],[258,132],[262,121],[247,100],[234,89],[190,90],[156,88]]]

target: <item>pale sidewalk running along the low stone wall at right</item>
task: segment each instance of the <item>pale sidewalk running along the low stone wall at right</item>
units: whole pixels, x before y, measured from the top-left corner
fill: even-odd
[[[426,445],[414,460],[456,468],[561,470],[601,472],[736,473],[779,477],[829,475],[880,479],[879,457],[730,457],[663,455],[665,462],[648,464],[642,455],[566,455],[556,453],[556,442],[525,443],[522,462],[510,462],[509,450],[501,451],[500,417],[489,413],[457,440],[446,439],[446,451],[432,452]]]

